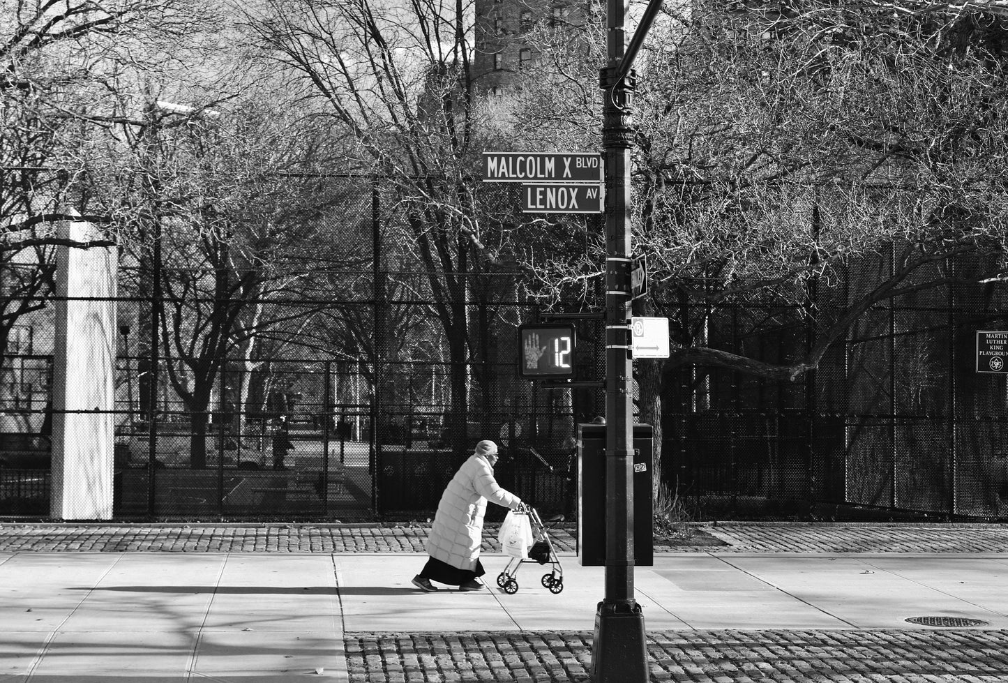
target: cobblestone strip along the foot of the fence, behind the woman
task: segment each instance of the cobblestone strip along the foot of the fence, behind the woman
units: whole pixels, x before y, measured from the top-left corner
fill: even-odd
[[[424,552],[429,523],[379,524],[0,524],[0,552]],[[483,551],[499,552],[488,524]],[[688,538],[655,539],[668,552],[1008,553],[997,524],[718,523]],[[568,524],[550,532],[557,552],[577,549]],[[1008,679],[1006,679],[1008,680]]]

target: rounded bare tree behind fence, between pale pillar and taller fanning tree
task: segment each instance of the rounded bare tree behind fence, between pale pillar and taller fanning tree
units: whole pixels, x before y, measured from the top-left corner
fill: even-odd
[[[148,241],[133,245],[135,286],[149,288],[143,278],[156,266],[159,295],[150,300],[168,380],[192,421],[196,468],[207,464],[210,401],[229,357],[255,370],[271,340],[328,305],[277,302],[301,299],[328,267],[354,262],[326,221],[343,197],[313,172],[328,132],[284,104],[246,98],[213,110],[169,110],[174,119],[121,155],[110,183],[145,190],[128,208],[159,223],[157,250]],[[148,174],[156,181],[146,182]],[[113,189],[110,212],[129,196]],[[243,399],[250,377],[243,374]]]

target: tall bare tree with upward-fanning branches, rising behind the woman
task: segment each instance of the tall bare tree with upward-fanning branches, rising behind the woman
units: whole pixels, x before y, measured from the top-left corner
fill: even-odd
[[[452,433],[466,438],[472,349],[467,295],[495,267],[501,236],[480,220],[477,101],[465,0],[269,0],[246,9],[264,55],[314,111],[353,134],[351,163],[387,177],[398,240],[420,264],[445,330]],[[378,330],[387,334],[389,330]]]

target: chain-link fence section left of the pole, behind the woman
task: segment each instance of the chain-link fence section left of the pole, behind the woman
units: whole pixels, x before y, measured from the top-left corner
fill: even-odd
[[[324,193],[324,215],[303,219],[317,230],[276,253],[152,227],[121,252],[107,301],[5,280],[0,293],[30,305],[3,355],[0,515],[49,514],[52,416],[68,412],[53,387],[72,384],[53,376],[59,311],[81,302],[117,322],[114,398],[96,407],[115,421],[117,518],[425,515],[483,438],[501,445],[504,486],[570,510],[573,424],[598,399],[518,379],[517,327],[536,319],[518,274],[475,253],[425,259],[438,245],[408,230],[389,183],[337,178]]]

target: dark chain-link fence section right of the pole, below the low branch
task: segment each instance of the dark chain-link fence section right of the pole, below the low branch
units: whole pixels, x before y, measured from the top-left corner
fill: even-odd
[[[885,277],[891,259],[853,262],[813,308],[722,306],[708,342],[770,362],[800,357],[851,305],[855,284]],[[982,266],[971,258],[934,268]],[[885,300],[795,382],[678,371],[663,417],[665,480],[707,515],[1003,519],[1008,387],[1004,375],[976,372],[975,345],[978,329],[1005,328],[1006,294],[956,283]],[[747,316],[776,320],[753,334]]]

